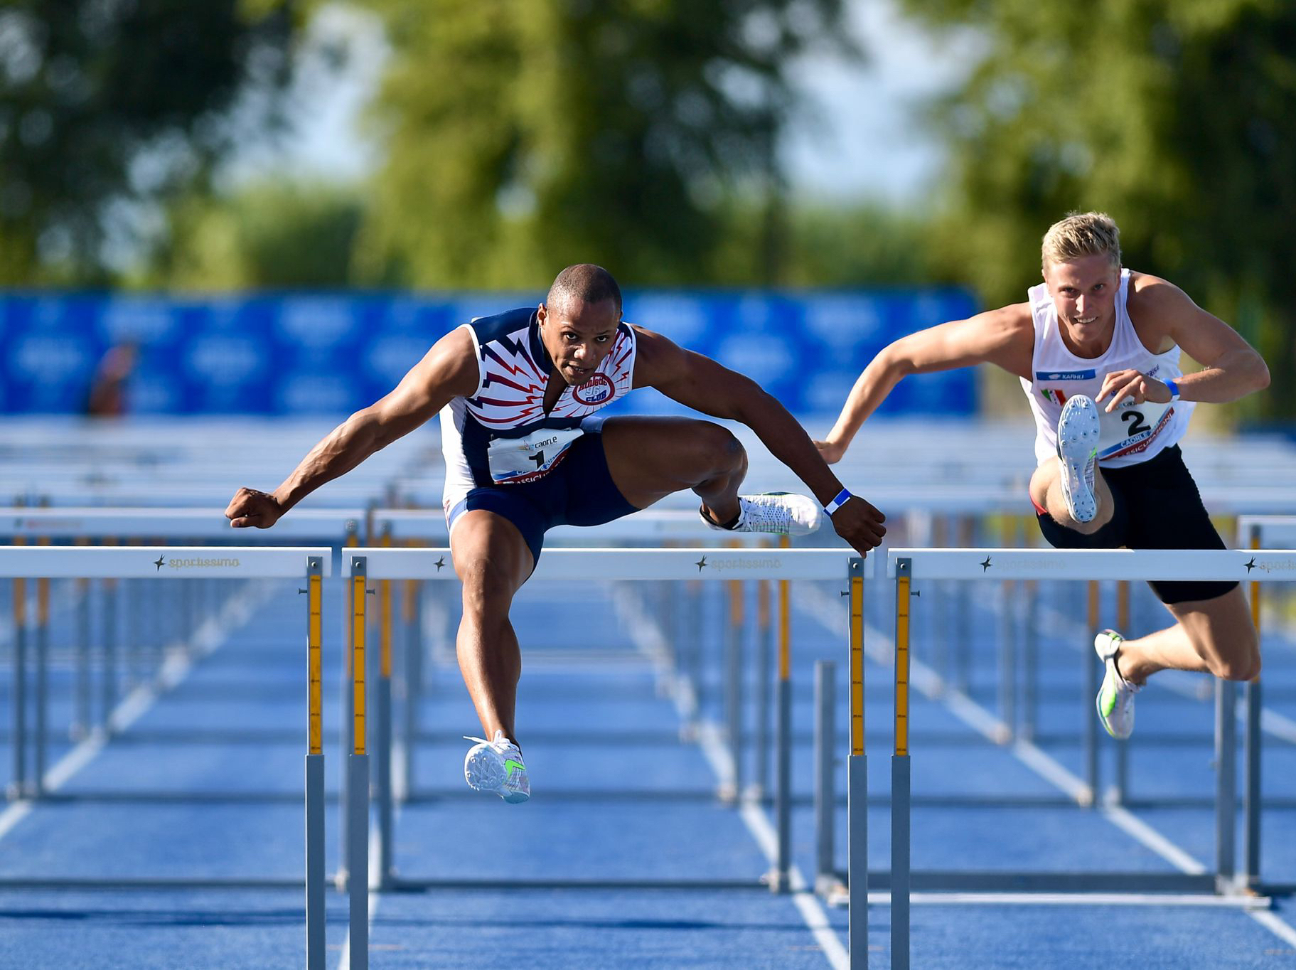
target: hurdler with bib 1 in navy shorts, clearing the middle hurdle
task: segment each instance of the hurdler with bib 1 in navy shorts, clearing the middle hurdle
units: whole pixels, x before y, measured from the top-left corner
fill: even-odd
[[[804,495],[739,495],[746,454],[713,421],[596,412],[632,388],[657,388],[714,418],[741,421],[806,484]],[[478,791],[525,801],[530,779],[513,729],[521,654],[513,595],[553,525],[597,525],[691,489],[712,528],[805,533],[820,507],[861,554],[885,533],[801,425],[754,381],[621,319],[621,290],[597,266],[569,266],[538,307],[457,327],[385,398],[356,411],[273,493],[240,489],[226,515],[268,528],[324,482],[441,414],[446,520],[463,581],[459,667],[485,738],[464,775]]]

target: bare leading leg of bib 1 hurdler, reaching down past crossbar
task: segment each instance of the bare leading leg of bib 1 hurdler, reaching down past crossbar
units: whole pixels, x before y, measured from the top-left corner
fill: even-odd
[[[455,572],[464,585],[456,654],[486,738],[513,734],[522,655],[508,611],[531,574],[531,551],[517,526],[483,508],[464,512],[450,536]]]

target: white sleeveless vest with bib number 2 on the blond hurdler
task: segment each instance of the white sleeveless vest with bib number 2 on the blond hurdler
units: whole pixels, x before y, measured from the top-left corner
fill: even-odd
[[[1043,463],[1058,454],[1058,418],[1061,406],[1072,394],[1096,398],[1103,379],[1113,371],[1133,368],[1157,380],[1182,376],[1179,348],[1164,354],[1153,354],[1138,338],[1128,310],[1130,271],[1121,270],[1121,288],[1116,294],[1116,331],[1111,346],[1102,357],[1076,357],[1063,342],[1058,329],[1058,310],[1048,287],[1032,287],[1030,314],[1036,324],[1036,349],[1030,359],[1034,380],[1021,379],[1021,388],[1030,401],[1036,416],[1036,462]],[[1098,442],[1098,462],[1108,468],[1146,462],[1174,445],[1188,429],[1194,402],[1175,401],[1157,405],[1147,401],[1135,405],[1125,398],[1107,414],[1108,401],[1099,405],[1102,420]]]

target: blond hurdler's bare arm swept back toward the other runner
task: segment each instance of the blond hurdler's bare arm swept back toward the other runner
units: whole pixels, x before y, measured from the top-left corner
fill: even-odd
[[[978,363],[998,364],[1017,376],[1030,375],[1034,329],[1029,303],[988,310],[910,333],[883,348],[850,389],[828,437],[816,441],[829,463],[850,446],[859,425],[877,410],[901,379],[911,373],[951,371]]]

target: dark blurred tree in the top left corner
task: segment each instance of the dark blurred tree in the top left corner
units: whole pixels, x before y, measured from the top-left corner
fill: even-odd
[[[0,283],[108,281],[132,204],[191,184],[267,119],[305,5],[0,8]]]

